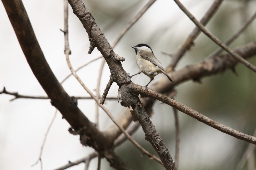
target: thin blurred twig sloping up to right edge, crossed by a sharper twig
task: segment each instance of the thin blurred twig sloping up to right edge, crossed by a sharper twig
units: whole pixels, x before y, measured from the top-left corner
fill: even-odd
[[[230,45],[239,35],[241,35],[244,30],[254,21],[256,17],[256,12],[249,18],[248,21],[244,23],[244,25],[233,35],[231,36],[226,42],[225,45]],[[223,51],[222,48],[215,50],[212,54],[210,54],[207,58],[214,58],[215,56],[219,55]]]

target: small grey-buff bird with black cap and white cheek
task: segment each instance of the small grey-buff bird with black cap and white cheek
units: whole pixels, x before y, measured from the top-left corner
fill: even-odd
[[[137,74],[140,74],[141,72],[150,77],[150,82],[154,80],[154,77],[159,74],[163,73],[166,75],[166,77],[171,81],[172,79],[169,77],[169,75],[166,73],[165,69],[163,68],[162,64],[158,61],[158,59],[155,57],[152,49],[149,45],[146,44],[138,44],[136,46],[131,46],[135,49],[136,52],[136,63],[139,67],[139,71]],[[133,76],[137,75],[134,74],[130,76],[130,80]],[[150,83],[149,82],[149,83]],[[145,86],[148,87],[149,83]]]

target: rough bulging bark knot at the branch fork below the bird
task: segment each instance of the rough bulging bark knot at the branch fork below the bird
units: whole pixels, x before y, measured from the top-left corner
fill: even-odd
[[[138,95],[130,92],[126,84],[119,87],[117,98],[124,107],[135,105],[140,101]]]

